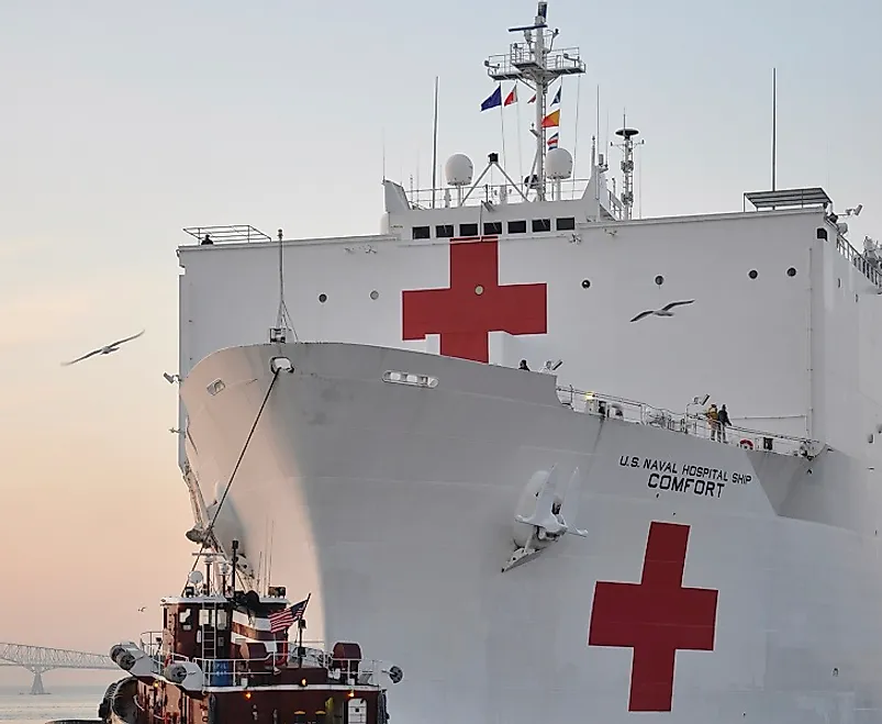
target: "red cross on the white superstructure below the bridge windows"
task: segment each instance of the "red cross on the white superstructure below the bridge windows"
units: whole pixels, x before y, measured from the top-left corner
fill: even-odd
[[[545,334],[546,285],[499,283],[495,236],[450,240],[450,287],[401,292],[402,338],[440,335],[440,354],[489,361],[490,332]]]

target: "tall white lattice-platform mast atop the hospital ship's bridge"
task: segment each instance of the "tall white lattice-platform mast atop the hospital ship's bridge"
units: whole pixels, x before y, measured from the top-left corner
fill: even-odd
[[[512,43],[509,55],[491,56],[484,62],[487,73],[493,80],[514,80],[523,82],[536,92],[536,156],[534,171],[527,177],[528,187],[536,189],[536,200],[546,198],[545,154],[546,140],[543,120],[546,115],[546,101],[551,83],[561,76],[578,75],[585,71],[579,48],[554,51],[554,42],[559,31],[548,30],[548,3],[539,0],[536,18],[532,25],[510,27],[510,33],[524,33],[525,43]]]

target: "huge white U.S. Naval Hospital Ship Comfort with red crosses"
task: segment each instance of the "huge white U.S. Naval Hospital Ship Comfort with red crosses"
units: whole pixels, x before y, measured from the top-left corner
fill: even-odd
[[[819,188],[634,219],[636,132],[621,194],[572,180],[584,65],[545,2],[514,30],[484,107],[533,103],[525,179],[455,155],[377,235],[189,230],[188,535],[400,664],[401,722],[882,721],[875,245]]]

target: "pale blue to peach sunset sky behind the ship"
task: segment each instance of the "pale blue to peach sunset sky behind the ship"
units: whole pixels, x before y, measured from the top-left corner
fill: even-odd
[[[483,60],[534,14],[535,0],[0,3],[0,641],[105,653],[158,627],[192,563],[161,377],[178,371],[181,227],[379,231],[383,166],[429,182],[436,75],[439,164],[464,152],[478,171],[502,151],[498,109],[479,112]],[[626,107],[647,142],[639,214],[740,210],[769,187],[777,66],[779,188],[863,203],[852,243],[882,238],[882,5],[551,0],[549,23],[588,63],[562,100],[577,176],[600,83],[601,133]],[[505,115],[518,175],[525,101]]]

